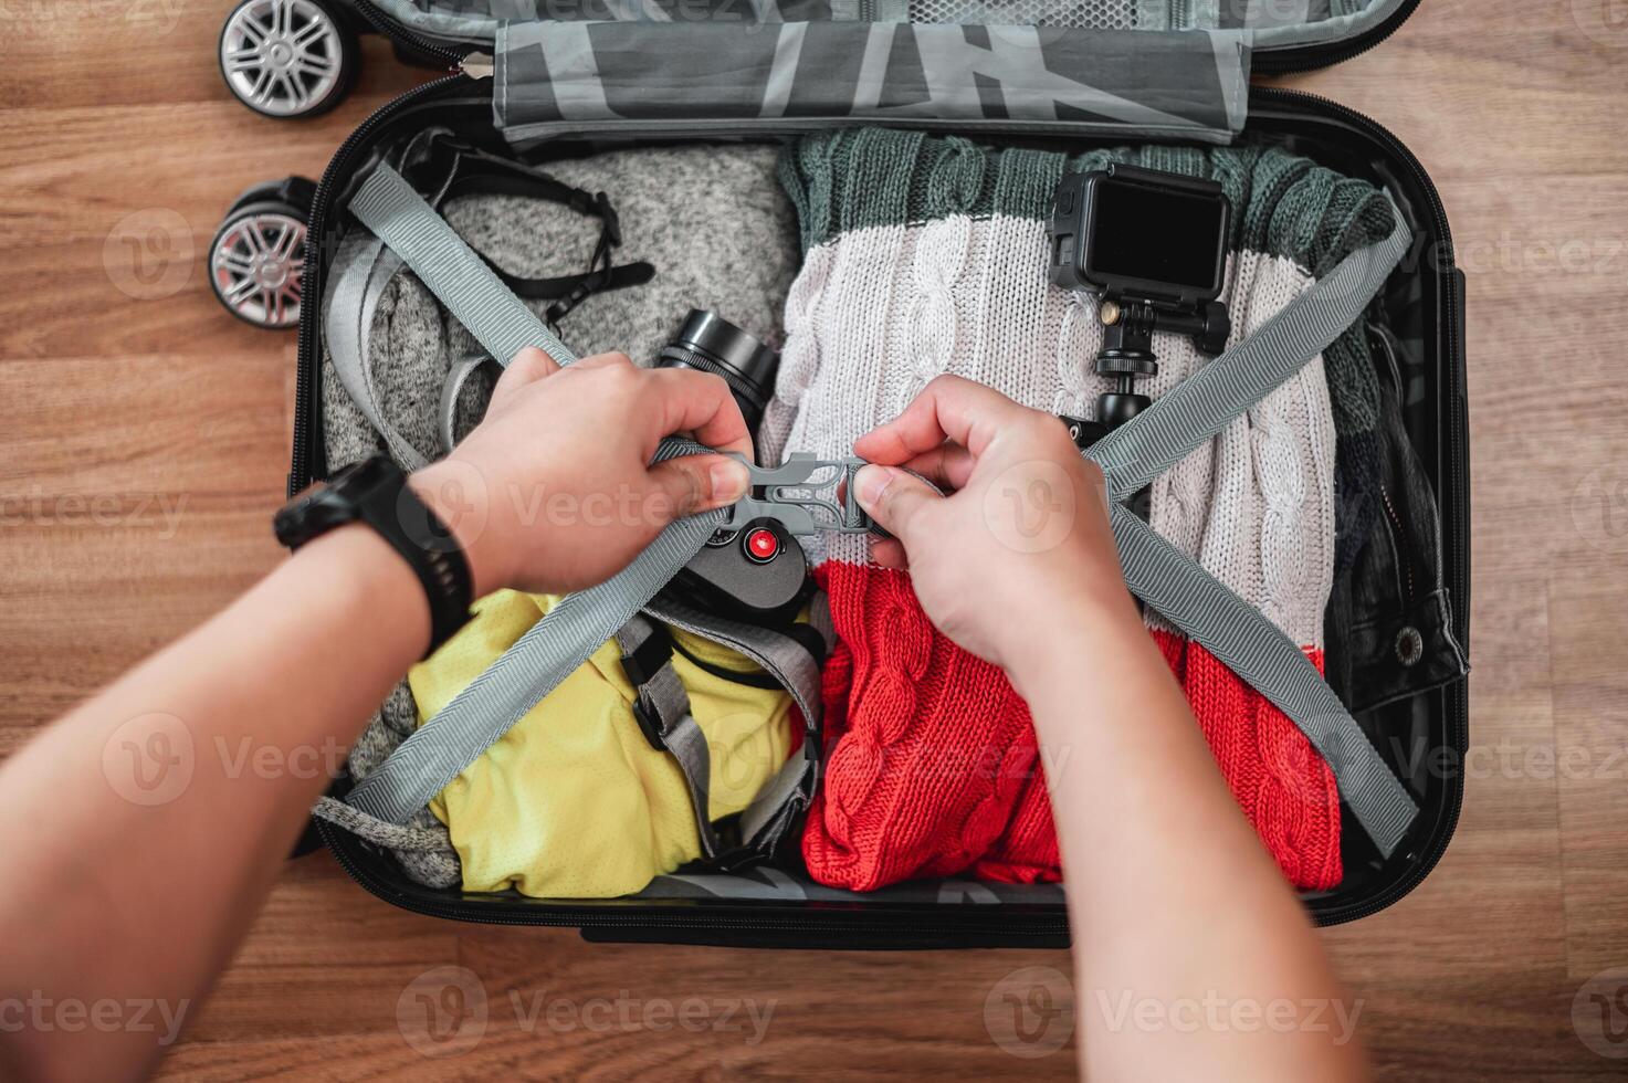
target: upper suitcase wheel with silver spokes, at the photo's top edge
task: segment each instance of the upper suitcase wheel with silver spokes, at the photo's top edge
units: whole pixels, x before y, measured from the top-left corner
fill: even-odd
[[[357,34],[329,0],[241,0],[220,31],[226,88],[267,117],[332,109],[357,81]]]

